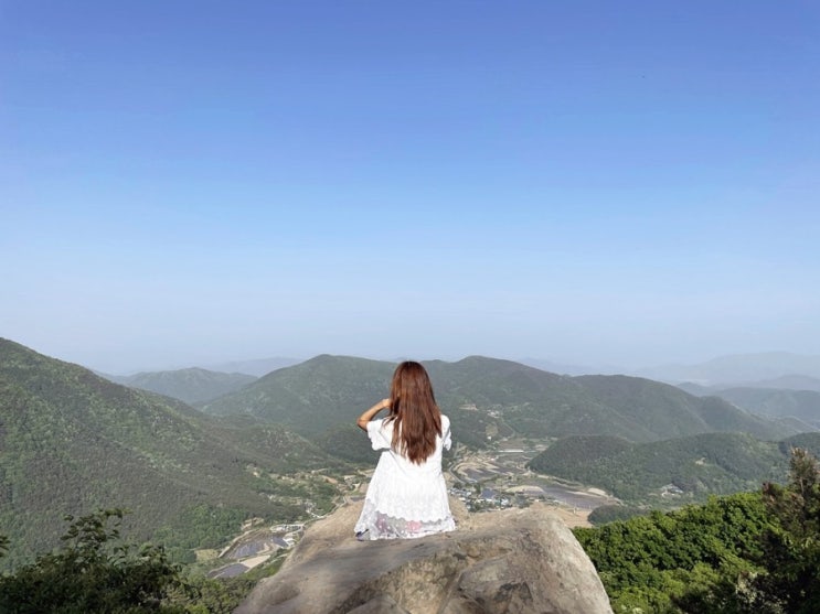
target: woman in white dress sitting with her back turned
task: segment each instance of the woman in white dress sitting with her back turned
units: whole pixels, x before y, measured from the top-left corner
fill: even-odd
[[[372,420],[383,409],[390,413]],[[373,450],[383,450],[355,525],[356,538],[395,539],[451,531],[456,524],[441,474],[441,451],[450,449],[450,421],[443,416],[424,367],[396,367],[390,398],[356,420]]]

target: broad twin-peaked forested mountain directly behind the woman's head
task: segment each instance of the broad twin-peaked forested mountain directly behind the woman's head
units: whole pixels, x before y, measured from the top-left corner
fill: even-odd
[[[426,362],[436,398],[457,441],[487,445],[498,437],[532,439],[611,434],[656,441],[714,431],[781,439],[798,432],[714,397],[626,376],[568,377],[494,358]],[[395,364],[318,356],[274,371],[236,392],[200,403],[219,416],[251,414],[309,438],[352,424],[388,394]]]

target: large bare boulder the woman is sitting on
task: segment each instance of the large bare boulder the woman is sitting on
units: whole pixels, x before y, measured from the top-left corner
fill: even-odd
[[[361,504],[345,506],[312,525],[235,614],[611,614],[593,563],[549,506],[452,507],[452,532],[360,542]]]

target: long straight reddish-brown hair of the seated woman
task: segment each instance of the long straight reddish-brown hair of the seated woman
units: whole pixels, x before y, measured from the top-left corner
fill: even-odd
[[[433,395],[425,368],[413,360],[396,367],[390,387],[390,416],[393,421],[393,449],[422,464],[436,450],[441,434],[441,412]]]

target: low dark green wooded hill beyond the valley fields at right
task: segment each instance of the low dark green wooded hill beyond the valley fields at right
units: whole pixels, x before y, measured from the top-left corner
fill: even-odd
[[[747,433],[704,433],[649,443],[609,435],[571,437],[554,442],[529,467],[598,486],[629,502],[667,497],[680,505],[710,494],[754,491],[766,481],[782,482],[791,446],[818,454],[820,433],[781,442],[760,441]],[[680,492],[664,488],[669,485]]]

